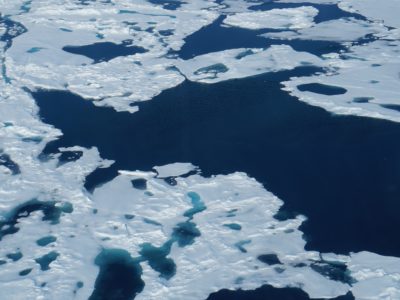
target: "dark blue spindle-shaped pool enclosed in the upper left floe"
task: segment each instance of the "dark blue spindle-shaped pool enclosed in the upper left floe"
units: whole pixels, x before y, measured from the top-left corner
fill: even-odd
[[[62,49],[69,53],[89,57],[93,59],[94,63],[109,61],[118,56],[127,56],[148,51],[142,47],[132,46],[131,43],[132,41],[130,40],[124,41],[121,44],[99,42],[84,46],[65,46]]]

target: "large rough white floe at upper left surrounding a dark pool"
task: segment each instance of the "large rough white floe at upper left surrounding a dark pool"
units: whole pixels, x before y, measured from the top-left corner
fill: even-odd
[[[175,59],[165,56],[218,16],[205,9],[210,6],[207,1],[197,4],[169,11],[146,1],[120,1],[112,6],[97,2],[82,6],[67,0],[32,2],[29,13],[13,16],[28,30],[13,40],[6,53],[7,75],[17,86],[68,89],[96,100],[96,105],[135,112],[132,103],[149,100],[183,81],[172,68]],[[92,64],[88,57],[62,50],[125,40],[147,52]]]

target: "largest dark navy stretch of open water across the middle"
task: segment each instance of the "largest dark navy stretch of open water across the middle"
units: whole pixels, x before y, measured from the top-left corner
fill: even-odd
[[[308,250],[400,256],[400,124],[334,116],[281,90],[281,81],[315,71],[185,81],[134,114],[68,92],[33,96],[43,121],[63,132],[45,153],[96,146],[115,160],[87,177],[89,190],[118,170],[175,162],[191,162],[205,177],[242,171],[282,199],[282,211],[307,216]]]

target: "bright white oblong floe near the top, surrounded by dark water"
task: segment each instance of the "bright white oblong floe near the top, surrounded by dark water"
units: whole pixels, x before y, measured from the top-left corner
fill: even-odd
[[[312,6],[271,9],[229,15],[224,24],[247,29],[301,29],[310,27],[318,10]]]

